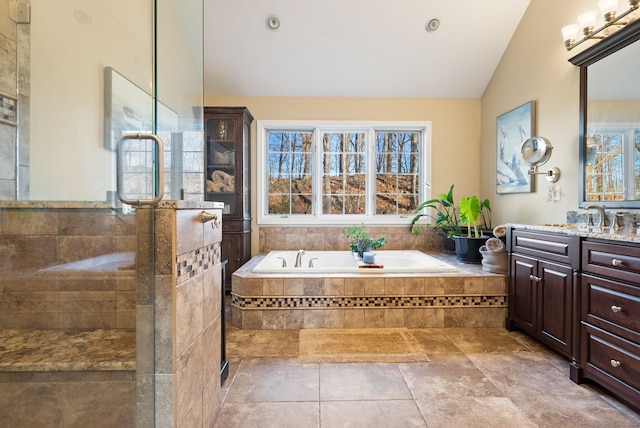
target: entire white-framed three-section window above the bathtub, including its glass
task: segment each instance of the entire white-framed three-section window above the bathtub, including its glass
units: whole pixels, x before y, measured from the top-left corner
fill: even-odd
[[[258,121],[260,224],[405,224],[430,181],[430,123]]]

